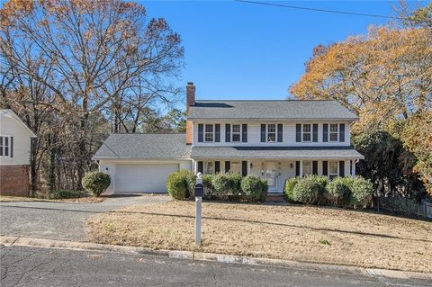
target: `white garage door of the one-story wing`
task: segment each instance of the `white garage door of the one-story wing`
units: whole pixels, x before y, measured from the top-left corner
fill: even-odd
[[[166,193],[166,176],[178,164],[116,165],[114,193]]]

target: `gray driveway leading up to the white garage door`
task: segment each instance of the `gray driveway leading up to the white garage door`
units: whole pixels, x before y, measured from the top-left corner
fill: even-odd
[[[0,202],[0,234],[86,241],[85,220],[95,213],[168,200],[166,195],[124,195],[99,203]]]

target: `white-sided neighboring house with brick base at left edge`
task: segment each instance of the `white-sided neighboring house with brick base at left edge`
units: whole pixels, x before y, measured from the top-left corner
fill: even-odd
[[[0,110],[0,194],[29,195],[31,138],[36,135],[12,110]]]

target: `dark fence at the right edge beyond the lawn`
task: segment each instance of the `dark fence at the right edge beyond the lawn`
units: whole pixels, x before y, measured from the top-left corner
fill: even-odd
[[[432,203],[430,202],[417,202],[400,197],[381,197],[379,208],[383,211],[432,219]]]

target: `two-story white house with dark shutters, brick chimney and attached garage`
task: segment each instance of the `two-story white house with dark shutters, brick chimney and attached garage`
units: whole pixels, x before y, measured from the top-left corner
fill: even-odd
[[[364,158],[350,146],[357,117],[336,101],[196,101],[186,90],[185,134],[112,134],[96,152],[110,193],[165,193],[179,168],[259,175],[283,193],[296,175],[356,175]]]

